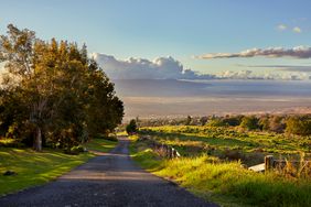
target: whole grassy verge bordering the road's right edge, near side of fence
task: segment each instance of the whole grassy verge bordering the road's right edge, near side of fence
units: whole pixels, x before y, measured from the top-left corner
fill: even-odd
[[[133,139],[131,156],[143,168],[186,187],[195,195],[222,206],[308,206],[311,182],[259,174],[238,162],[219,162],[199,155],[161,160],[143,142]]]

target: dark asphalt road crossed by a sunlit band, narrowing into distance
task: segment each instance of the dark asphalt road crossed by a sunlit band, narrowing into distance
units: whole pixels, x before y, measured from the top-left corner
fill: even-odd
[[[129,140],[43,186],[0,198],[0,206],[216,206],[138,167]],[[33,175],[35,176],[35,175]]]

